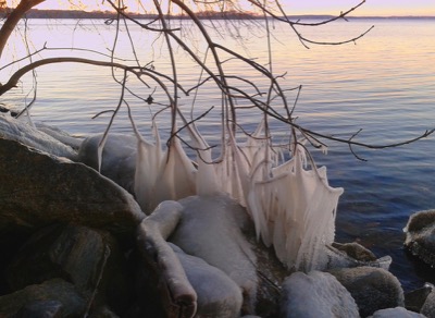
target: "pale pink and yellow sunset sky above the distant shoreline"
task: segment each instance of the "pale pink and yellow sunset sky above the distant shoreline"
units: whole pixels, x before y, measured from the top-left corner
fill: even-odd
[[[18,0],[9,0],[9,5]],[[137,0],[124,0],[132,10],[137,10]],[[249,10],[247,0],[239,0],[244,8]],[[46,0],[38,9],[79,9],[86,5],[87,10],[107,10],[101,0]],[[152,0],[142,0],[149,7]],[[163,1],[164,2],[164,1]],[[357,5],[358,0],[281,0],[287,14],[339,14],[340,11]],[[77,3],[72,5],[71,3]],[[435,16],[435,0],[366,0],[353,15],[432,15]]]

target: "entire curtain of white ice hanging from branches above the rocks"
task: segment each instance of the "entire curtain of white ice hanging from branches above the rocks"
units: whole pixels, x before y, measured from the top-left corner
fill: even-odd
[[[289,269],[322,270],[327,264],[325,245],[334,242],[343,188],[331,187],[326,169],[318,169],[312,160],[312,169],[304,168],[307,150],[300,143],[293,145],[291,159],[277,164],[277,154],[262,132],[261,123],[241,144],[228,131],[222,156],[214,160],[207,142],[190,126],[198,154],[194,166],[176,137],[163,151],[157,131],[152,144],[136,130],[135,193],[139,205],[149,212],[165,199],[227,193],[247,208],[257,237],[273,245]]]

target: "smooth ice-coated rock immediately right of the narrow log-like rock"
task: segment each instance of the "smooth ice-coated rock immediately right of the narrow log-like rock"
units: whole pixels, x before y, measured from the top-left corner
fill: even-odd
[[[198,295],[196,317],[238,317],[244,299],[239,286],[220,269],[185,254],[174,244],[171,246]]]

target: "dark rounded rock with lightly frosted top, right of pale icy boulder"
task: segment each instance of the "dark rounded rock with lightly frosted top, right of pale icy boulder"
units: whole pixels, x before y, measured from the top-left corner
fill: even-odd
[[[405,306],[399,280],[382,268],[356,267],[330,270],[350,292],[361,317],[376,310]]]

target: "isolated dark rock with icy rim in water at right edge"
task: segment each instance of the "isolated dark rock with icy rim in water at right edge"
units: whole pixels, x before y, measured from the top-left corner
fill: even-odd
[[[412,215],[403,229],[405,247],[427,265],[435,267],[435,210]]]

